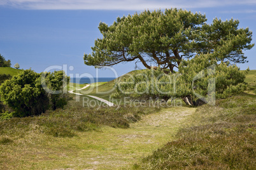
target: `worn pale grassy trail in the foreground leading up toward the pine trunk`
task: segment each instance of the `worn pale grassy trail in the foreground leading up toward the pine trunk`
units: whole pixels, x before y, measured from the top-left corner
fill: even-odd
[[[129,129],[104,127],[101,132],[82,133],[83,149],[72,159],[76,169],[131,169],[131,166],[174,139],[186,126],[195,108],[171,107],[143,116]],[[71,166],[72,167],[72,166]]]

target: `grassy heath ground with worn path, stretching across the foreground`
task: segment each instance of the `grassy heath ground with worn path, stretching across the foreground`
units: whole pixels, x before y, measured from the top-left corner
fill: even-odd
[[[68,88],[109,100],[97,91],[114,81]],[[117,108],[71,94],[64,109],[0,121],[0,169],[255,169],[256,70],[245,81],[215,106]]]

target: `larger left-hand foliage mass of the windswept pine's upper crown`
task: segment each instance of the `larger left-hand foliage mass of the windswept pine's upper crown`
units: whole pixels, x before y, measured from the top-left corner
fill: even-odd
[[[103,39],[96,40],[92,55],[84,55],[85,64],[104,67],[140,60],[148,69],[155,62],[173,70],[176,59],[181,59],[179,52],[194,51],[192,40],[199,38],[196,32],[204,22],[205,15],[177,9],[118,17],[110,26],[101,22]]]

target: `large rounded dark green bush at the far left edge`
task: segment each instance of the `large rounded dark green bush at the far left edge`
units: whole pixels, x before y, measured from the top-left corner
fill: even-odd
[[[16,112],[16,116],[39,115],[48,108],[48,98],[41,87],[40,75],[24,70],[0,86],[1,101]]]

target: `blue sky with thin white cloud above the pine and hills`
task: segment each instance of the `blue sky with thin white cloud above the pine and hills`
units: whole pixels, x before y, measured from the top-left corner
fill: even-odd
[[[102,37],[99,22],[113,23],[117,16],[143,10],[182,8],[213,18],[238,19],[239,27],[256,34],[256,1],[103,1],[103,0],[0,0],[0,53],[12,67],[43,72],[53,65],[67,65],[69,74],[96,76],[96,69],[83,63],[83,53],[91,53],[95,39]],[[238,66],[256,70],[256,47],[245,51],[248,63]],[[120,63],[113,69],[120,76],[134,70],[134,63]],[[144,69],[143,65],[139,65]],[[52,67],[54,68],[54,67]],[[110,69],[99,70],[99,77],[115,77]]]

